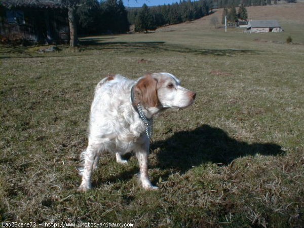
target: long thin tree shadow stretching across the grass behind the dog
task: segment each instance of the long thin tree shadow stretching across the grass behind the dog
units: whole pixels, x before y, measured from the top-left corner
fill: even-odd
[[[112,50],[119,53],[164,53],[164,52],[173,52],[176,54],[194,54],[200,56],[212,55],[212,56],[239,56],[239,55],[250,55],[250,54],[259,54],[261,51],[257,50],[248,50],[248,49],[206,49],[206,48],[193,48],[184,45],[174,45],[167,44],[163,41],[155,42],[111,42],[109,40],[113,37],[87,37],[80,40],[80,46],[77,49],[68,49],[67,47],[62,47],[58,52],[52,55],[39,53],[26,53],[24,50],[20,53],[0,53],[0,59],[7,58],[56,58],[56,57],[67,57],[67,56],[84,56],[86,53],[81,53],[84,51],[90,50]],[[61,53],[63,50],[70,50]],[[14,54],[15,55],[12,55]],[[24,55],[20,54],[23,53]],[[17,55],[16,55],[17,54]],[[89,54],[88,54],[89,55]]]

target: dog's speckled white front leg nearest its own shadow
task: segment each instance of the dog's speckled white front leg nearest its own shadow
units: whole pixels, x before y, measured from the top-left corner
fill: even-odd
[[[158,189],[151,184],[148,176],[148,148],[148,145],[143,145],[135,151],[140,169],[139,181],[144,189]]]

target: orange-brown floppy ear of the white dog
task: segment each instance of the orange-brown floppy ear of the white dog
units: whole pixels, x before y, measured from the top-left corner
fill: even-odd
[[[138,81],[135,88],[136,103],[144,106],[156,107],[158,104],[157,81],[150,75]]]

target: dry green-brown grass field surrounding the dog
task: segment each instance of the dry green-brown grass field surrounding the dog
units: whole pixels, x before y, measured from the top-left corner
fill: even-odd
[[[303,227],[304,34],[182,25],[84,37],[79,49],[0,47],[0,221],[134,227]],[[300,26],[303,27],[304,24]],[[297,44],[284,43],[291,35]],[[78,193],[94,86],[170,72],[197,92],[155,119],[144,191],[138,165],[101,159]]]

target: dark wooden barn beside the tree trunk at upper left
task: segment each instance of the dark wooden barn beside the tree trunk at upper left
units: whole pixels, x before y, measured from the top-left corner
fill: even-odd
[[[61,0],[1,0],[0,41],[68,42],[67,9]]]

